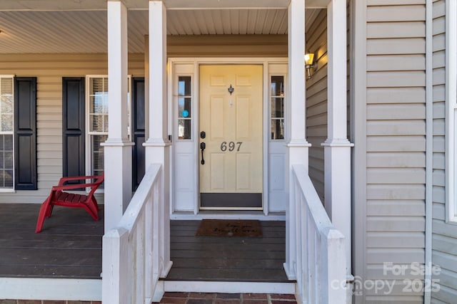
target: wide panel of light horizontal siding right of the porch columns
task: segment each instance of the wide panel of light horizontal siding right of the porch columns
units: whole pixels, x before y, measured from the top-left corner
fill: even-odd
[[[374,288],[365,288],[356,303],[423,301],[423,292],[403,290],[407,287],[403,279],[423,280],[423,276],[408,271],[401,276],[383,273],[383,263],[407,268],[413,262],[424,263],[425,2],[368,1],[363,281],[383,280],[393,284],[393,290],[376,293]]]

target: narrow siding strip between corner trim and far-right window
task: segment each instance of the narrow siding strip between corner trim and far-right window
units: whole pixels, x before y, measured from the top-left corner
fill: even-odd
[[[448,0],[449,1],[449,0]],[[446,224],[446,1],[433,2],[433,223],[432,280],[439,290],[431,303],[453,303],[457,297],[457,226]]]

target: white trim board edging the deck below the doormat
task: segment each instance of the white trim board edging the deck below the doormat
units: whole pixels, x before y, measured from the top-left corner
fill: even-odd
[[[211,281],[162,281],[167,292],[193,293],[278,293],[295,294],[295,282],[211,282]]]

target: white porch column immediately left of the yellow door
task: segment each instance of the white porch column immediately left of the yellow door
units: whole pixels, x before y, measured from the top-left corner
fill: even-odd
[[[162,1],[149,1],[149,115],[146,115],[146,167],[149,164],[161,164],[162,189],[159,223],[154,224],[154,238],[159,239],[158,275],[165,277],[170,268],[170,141],[167,130],[167,98],[166,98],[166,7]],[[148,85],[146,85],[148,88]],[[156,293],[163,290],[156,290]]]

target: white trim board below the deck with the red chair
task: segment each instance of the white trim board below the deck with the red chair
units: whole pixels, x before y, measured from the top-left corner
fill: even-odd
[[[101,280],[0,278],[0,299],[101,301]]]

